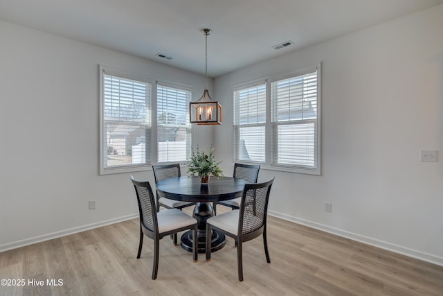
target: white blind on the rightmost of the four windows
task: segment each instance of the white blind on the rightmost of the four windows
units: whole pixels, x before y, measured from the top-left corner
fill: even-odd
[[[271,83],[273,166],[318,169],[318,70]]]

